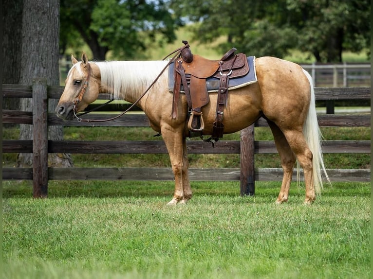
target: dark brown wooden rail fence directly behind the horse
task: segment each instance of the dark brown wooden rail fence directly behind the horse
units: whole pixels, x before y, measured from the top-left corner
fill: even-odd
[[[3,153],[33,153],[32,168],[3,168],[4,180],[33,180],[34,197],[46,196],[48,180],[173,180],[171,168],[57,168],[48,167],[48,153],[110,153],[155,154],[167,153],[161,140],[87,141],[48,140],[48,126],[89,126],[76,121],[63,122],[54,113],[47,112],[48,99],[59,99],[63,87],[47,86],[36,80],[32,86],[3,85],[3,98],[33,98],[33,111],[2,111],[3,123],[33,124],[34,140],[2,140]],[[317,100],[370,100],[370,87],[316,87]],[[108,98],[107,95],[100,99]],[[367,101],[368,104],[368,101]],[[107,117],[92,114],[92,119]],[[322,127],[370,127],[370,114],[319,115]],[[95,123],[95,126],[149,126],[144,114],[127,114],[111,122]],[[241,194],[254,194],[255,181],[281,181],[280,168],[254,168],[254,154],[277,153],[273,141],[254,140],[254,127],[268,127],[262,118],[241,131],[241,140],[220,140],[213,148],[200,140],[187,142],[189,153],[240,154],[241,168],[190,168],[191,180],[241,181]],[[326,140],[324,153],[371,153],[370,140]],[[331,181],[370,181],[370,169],[328,169]],[[293,175],[296,179],[296,173]]]

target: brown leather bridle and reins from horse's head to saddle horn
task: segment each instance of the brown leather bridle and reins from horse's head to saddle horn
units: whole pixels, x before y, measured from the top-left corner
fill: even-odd
[[[119,115],[117,116],[114,116],[112,118],[109,118],[109,119],[82,119],[81,116],[84,115],[84,114],[87,114],[87,113],[90,113],[92,111],[95,111],[109,103],[111,103],[112,101],[114,101],[114,99],[110,99],[108,102],[106,102],[105,104],[102,104],[102,105],[99,105],[98,107],[95,107],[89,111],[86,111],[86,112],[83,112],[81,114],[76,114],[77,113],[77,105],[79,104],[79,102],[83,99],[83,95],[84,93],[86,92],[86,89],[89,85],[89,80],[90,80],[90,77],[91,77],[91,65],[90,63],[88,62],[87,63],[87,68],[88,68],[88,73],[87,73],[87,77],[86,77],[86,80],[85,82],[83,83],[83,87],[80,89],[80,92],[79,92],[79,95],[78,97],[75,99],[75,101],[73,102],[73,112],[74,112],[74,116],[75,118],[77,119],[78,122],[107,122],[107,121],[112,121],[112,120],[115,120],[121,116],[123,116],[125,113],[127,113],[128,111],[130,111],[135,105],[137,105],[137,103],[145,96],[146,93],[148,93],[149,89],[155,84],[155,82],[159,79],[159,77],[163,74],[163,72],[167,69],[167,67],[173,62],[175,61],[178,56],[181,54],[181,52],[185,49],[189,47],[189,44],[186,44],[178,49],[176,49],[175,51],[169,53],[165,58],[163,58],[162,60],[166,60],[166,58],[172,54],[175,53],[174,56],[172,56],[171,59],[169,59],[167,65],[161,70],[161,72],[156,76],[156,78],[154,79],[154,81],[149,85],[149,87],[145,90],[145,92],[137,99],[136,102],[134,102],[129,108],[127,108],[125,111],[123,111],[122,113],[120,113]]]

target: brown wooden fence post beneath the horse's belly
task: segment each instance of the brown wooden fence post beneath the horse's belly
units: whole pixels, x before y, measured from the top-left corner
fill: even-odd
[[[255,193],[254,173],[254,124],[241,131],[241,195],[253,196]]]

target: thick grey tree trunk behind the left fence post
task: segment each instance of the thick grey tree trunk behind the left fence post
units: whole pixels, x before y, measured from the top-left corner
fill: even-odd
[[[20,61],[20,84],[32,85],[36,78],[45,78],[49,86],[59,85],[59,0],[24,0],[22,20],[22,52]],[[57,100],[50,100],[49,111],[53,112]],[[22,99],[21,110],[31,111],[32,100]],[[50,126],[49,140],[62,140],[60,126]],[[20,139],[32,139],[31,125],[20,126]],[[50,154],[49,166],[71,166],[69,155]],[[19,166],[31,166],[32,154],[19,154]]]

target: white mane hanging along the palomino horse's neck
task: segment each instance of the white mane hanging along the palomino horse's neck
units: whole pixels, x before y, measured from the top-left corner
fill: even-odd
[[[112,94],[114,99],[125,99],[127,93],[132,96],[140,96],[144,93],[167,62],[109,61],[95,64],[100,69],[101,86],[111,88],[108,93]]]

